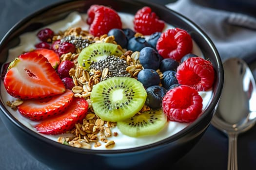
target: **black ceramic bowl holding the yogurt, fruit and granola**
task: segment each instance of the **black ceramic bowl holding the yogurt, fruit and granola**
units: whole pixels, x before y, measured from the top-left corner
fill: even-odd
[[[92,4],[111,6],[118,12],[135,14],[143,6],[150,6],[158,16],[175,27],[187,30],[202,51],[209,58],[216,71],[213,85],[213,100],[205,112],[187,128],[154,144],[123,150],[87,150],[66,146],[43,137],[14,118],[8,112],[1,96],[0,115],[7,129],[17,141],[36,159],[57,170],[82,169],[155,169],[170,165],[181,158],[197,143],[208,128],[215,113],[223,84],[223,69],[215,46],[206,34],[187,18],[153,3],[137,0],[71,0],[42,9],[16,24],[0,42],[0,64],[6,62],[8,49],[19,44],[19,35],[39,29],[66,17],[73,11],[86,13]],[[164,166],[166,167],[166,166]]]

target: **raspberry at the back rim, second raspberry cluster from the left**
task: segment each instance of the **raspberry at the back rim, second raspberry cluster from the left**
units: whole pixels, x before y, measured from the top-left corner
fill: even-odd
[[[152,12],[148,6],[138,10],[134,17],[134,30],[144,35],[162,32],[164,26],[164,21],[160,20],[157,14]]]

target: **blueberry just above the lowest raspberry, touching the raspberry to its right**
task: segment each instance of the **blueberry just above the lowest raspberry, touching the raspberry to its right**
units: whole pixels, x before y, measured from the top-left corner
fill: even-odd
[[[169,89],[171,85],[178,84],[176,72],[172,70],[164,71],[161,83],[166,89]]]

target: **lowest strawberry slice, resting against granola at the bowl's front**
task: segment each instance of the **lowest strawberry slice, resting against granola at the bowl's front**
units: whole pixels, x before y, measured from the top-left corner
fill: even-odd
[[[75,127],[75,124],[85,118],[88,103],[84,98],[74,98],[67,110],[60,116],[46,119],[35,128],[41,134],[57,135],[65,133]]]

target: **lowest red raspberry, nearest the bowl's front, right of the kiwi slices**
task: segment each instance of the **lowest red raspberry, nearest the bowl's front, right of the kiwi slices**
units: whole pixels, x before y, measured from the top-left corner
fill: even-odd
[[[169,90],[162,101],[163,112],[171,121],[192,122],[200,115],[202,107],[202,97],[187,85]]]

